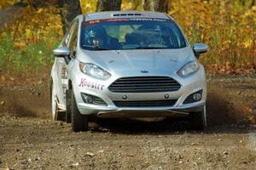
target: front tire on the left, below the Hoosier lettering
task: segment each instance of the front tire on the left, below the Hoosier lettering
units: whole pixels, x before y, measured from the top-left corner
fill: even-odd
[[[71,91],[70,104],[72,130],[73,132],[84,132],[88,129],[88,116],[83,116],[79,112],[73,90]]]

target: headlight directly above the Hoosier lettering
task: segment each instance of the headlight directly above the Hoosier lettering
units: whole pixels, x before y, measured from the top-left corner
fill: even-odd
[[[104,71],[102,68],[98,67],[97,65],[93,65],[91,63],[79,63],[80,70],[91,77],[100,78],[103,80],[108,79],[111,75],[108,71]]]

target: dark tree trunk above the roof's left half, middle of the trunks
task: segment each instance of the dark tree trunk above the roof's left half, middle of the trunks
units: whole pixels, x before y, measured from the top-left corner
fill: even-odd
[[[96,12],[100,11],[119,11],[121,0],[98,0]]]

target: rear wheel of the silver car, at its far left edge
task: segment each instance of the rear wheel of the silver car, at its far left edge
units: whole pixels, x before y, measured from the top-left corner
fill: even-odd
[[[58,104],[57,104],[57,95],[55,93],[55,87],[53,81],[49,81],[49,88],[50,88],[50,103],[51,103],[51,116],[54,121],[64,121],[65,117],[63,112],[59,111]]]

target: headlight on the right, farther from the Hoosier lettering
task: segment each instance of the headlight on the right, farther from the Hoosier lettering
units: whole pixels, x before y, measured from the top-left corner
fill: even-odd
[[[186,77],[189,76],[196,71],[199,70],[199,62],[198,60],[192,61],[184,65],[179,71],[177,71],[177,75],[180,77]]]

